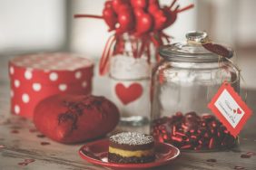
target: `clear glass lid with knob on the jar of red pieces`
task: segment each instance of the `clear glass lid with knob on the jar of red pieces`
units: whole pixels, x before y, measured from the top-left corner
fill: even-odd
[[[186,33],[186,38],[186,42],[163,45],[159,48],[160,55],[167,61],[216,62],[219,60],[218,54],[210,52],[202,46],[202,43],[208,41],[207,33],[193,31]],[[228,58],[231,58],[233,51],[231,48],[225,48],[229,51]]]

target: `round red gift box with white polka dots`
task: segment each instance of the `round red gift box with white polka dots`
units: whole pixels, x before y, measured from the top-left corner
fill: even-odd
[[[35,106],[55,94],[90,94],[94,63],[71,53],[38,53],[9,61],[11,111],[33,118]]]

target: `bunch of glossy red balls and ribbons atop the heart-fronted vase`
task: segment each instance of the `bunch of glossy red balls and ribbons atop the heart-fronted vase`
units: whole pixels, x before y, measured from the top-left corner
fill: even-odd
[[[103,19],[109,27],[109,32],[115,32],[105,44],[100,61],[100,74],[104,75],[108,71],[113,44],[120,40],[123,33],[142,38],[143,45],[138,57],[145,50],[150,58],[150,42],[153,42],[155,47],[162,45],[164,40],[170,42],[171,36],[163,33],[162,30],[176,21],[177,14],[193,7],[187,5],[180,8],[180,5],[175,5],[176,2],[177,0],[173,0],[171,5],[161,7],[158,0],[107,0],[101,16],[74,14],[74,18]],[[157,55],[155,57],[159,61]]]

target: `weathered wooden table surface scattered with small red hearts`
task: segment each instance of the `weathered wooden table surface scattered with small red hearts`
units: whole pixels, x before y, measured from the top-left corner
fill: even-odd
[[[25,118],[11,116],[9,108],[9,80],[7,77],[7,61],[12,57],[0,56],[0,170],[84,170],[105,169],[102,166],[91,165],[78,155],[80,145],[63,145],[48,139],[38,137],[33,123]],[[107,95],[107,86],[100,86],[99,81],[105,78],[96,76],[94,79],[94,94]],[[104,83],[107,84],[107,83]],[[256,110],[256,91],[248,90],[247,103]],[[255,169],[256,156],[241,158],[247,152],[256,153],[256,115],[254,114],[242,129],[240,146],[229,151],[208,153],[185,153],[170,165],[154,169],[175,170],[212,170],[212,169]],[[144,131],[148,127],[117,127],[117,130]],[[49,145],[42,145],[42,142]],[[25,159],[34,159],[30,164],[23,164]],[[208,162],[216,159],[216,162]]]

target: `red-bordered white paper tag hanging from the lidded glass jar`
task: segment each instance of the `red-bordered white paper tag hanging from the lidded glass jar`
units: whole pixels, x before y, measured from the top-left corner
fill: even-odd
[[[251,116],[251,109],[242,101],[239,94],[229,83],[224,82],[217,94],[208,105],[222,124],[227,127],[231,135],[236,137],[247,119]]]

